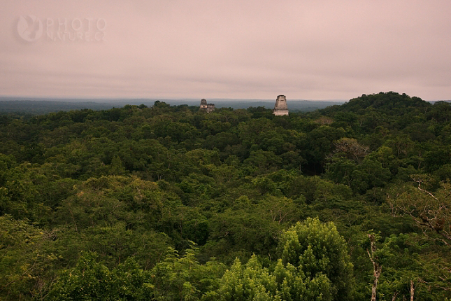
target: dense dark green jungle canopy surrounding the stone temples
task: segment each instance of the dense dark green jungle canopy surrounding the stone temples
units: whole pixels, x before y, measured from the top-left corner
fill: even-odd
[[[0,141],[1,300],[451,298],[448,102],[8,113]]]

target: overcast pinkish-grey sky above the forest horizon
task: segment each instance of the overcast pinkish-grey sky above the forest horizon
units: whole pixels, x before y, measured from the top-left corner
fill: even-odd
[[[2,0],[0,96],[451,99],[450,0]]]

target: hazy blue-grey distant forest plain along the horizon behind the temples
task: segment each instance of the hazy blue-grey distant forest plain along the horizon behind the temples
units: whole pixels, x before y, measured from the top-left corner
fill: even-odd
[[[122,107],[127,104],[153,106],[154,102],[166,102],[171,106],[199,106],[200,99],[46,99],[30,97],[0,97],[0,113],[31,113],[43,114],[57,111],[71,111],[81,109],[108,110],[113,107]],[[250,106],[264,106],[273,109],[275,100],[269,99],[208,99],[209,103],[217,108],[247,109]],[[327,106],[344,104],[344,100],[288,100],[290,111],[315,111]]]

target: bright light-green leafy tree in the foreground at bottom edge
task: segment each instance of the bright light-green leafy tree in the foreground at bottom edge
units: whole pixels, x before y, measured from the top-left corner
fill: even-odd
[[[238,258],[217,290],[220,300],[352,300],[352,264],[333,223],[308,218],[282,233],[271,268]]]

